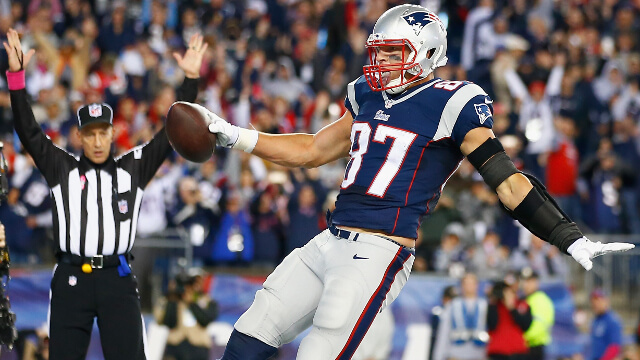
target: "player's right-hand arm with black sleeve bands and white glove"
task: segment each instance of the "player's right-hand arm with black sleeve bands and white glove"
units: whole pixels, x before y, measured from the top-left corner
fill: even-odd
[[[591,259],[595,257],[635,247],[633,244],[602,244],[587,239],[537,179],[515,168],[490,129],[469,131],[460,150],[487,185],[497,192],[511,216],[536,236],[571,255],[585,269],[591,270]]]

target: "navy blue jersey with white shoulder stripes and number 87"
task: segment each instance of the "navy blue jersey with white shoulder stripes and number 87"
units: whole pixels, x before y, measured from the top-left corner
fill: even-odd
[[[332,215],[335,225],[416,238],[458,168],[464,136],[491,128],[491,99],[478,85],[433,79],[398,95],[349,84],[351,160]]]

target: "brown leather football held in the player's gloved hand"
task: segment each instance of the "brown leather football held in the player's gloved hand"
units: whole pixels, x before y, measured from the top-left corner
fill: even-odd
[[[205,162],[216,148],[216,136],[209,132],[206,116],[198,106],[182,101],[173,103],[167,113],[169,143],[189,161]]]

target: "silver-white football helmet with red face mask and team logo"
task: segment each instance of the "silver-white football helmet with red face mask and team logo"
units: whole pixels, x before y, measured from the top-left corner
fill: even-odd
[[[409,57],[402,62],[380,65],[376,56],[380,47],[406,46]],[[425,78],[447,63],[447,31],[436,14],[418,5],[399,5],[380,16],[367,39],[370,65],[364,76],[373,91],[390,94],[404,91],[413,82]],[[401,71],[397,79],[385,82],[384,73]],[[387,74],[388,76],[388,74]]]

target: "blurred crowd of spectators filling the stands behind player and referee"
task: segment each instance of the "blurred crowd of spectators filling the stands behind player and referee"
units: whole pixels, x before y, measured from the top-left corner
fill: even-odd
[[[76,110],[115,110],[114,151],[163,125],[183,78],[174,52],[194,33],[209,44],[198,101],[270,133],[315,132],[345,111],[346,84],[388,7],[418,3],[448,29],[436,76],[470,80],[493,98],[494,132],[585,232],[640,233],[640,4],[626,0],[0,0],[10,27],[37,50],[27,91],[47,135],[80,151]],[[6,70],[0,55],[0,71]],[[0,80],[0,136],[12,189],[0,221],[16,262],[52,260],[51,200],[13,135]],[[204,164],[177,154],[148,186],[141,237],[184,227],[200,264],[273,266],[325,226],[346,159],[285,169],[218,149]],[[566,275],[561,254],[501,211],[465,161],[418,231],[416,271],[499,277],[531,266]]]

